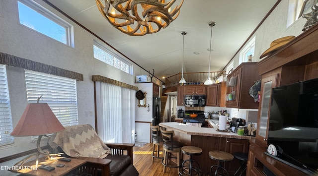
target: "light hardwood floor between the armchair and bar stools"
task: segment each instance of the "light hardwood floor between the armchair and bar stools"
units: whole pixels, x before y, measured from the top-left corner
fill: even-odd
[[[163,173],[162,159],[154,158],[154,162],[151,161],[152,147],[153,143],[147,143],[143,147],[133,147],[133,163],[139,176],[178,176],[177,168],[166,168]],[[162,152],[160,155],[162,156]]]

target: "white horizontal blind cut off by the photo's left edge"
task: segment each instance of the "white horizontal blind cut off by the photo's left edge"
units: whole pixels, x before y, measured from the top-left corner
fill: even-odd
[[[5,65],[0,64],[0,146],[12,144],[12,115]]]

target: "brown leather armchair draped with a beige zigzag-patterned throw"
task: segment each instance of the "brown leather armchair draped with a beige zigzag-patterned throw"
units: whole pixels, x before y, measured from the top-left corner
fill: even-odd
[[[103,143],[89,124],[67,126],[65,128],[64,131],[53,134],[48,145],[51,153],[63,152],[65,153],[64,157],[86,161],[72,174],[86,173],[92,176],[139,175],[133,166],[133,146],[135,144]],[[106,157],[102,158],[103,156]]]

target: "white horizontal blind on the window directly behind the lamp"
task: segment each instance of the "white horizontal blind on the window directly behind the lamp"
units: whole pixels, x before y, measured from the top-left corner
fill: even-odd
[[[76,80],[36,71],[25,70],[28,103],[47,103],[63,126],[78,122]]]

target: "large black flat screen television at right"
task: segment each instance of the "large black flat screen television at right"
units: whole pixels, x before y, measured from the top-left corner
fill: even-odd
[[[267,143],[291,166],[318,171],[318,79],[272,89]]]

